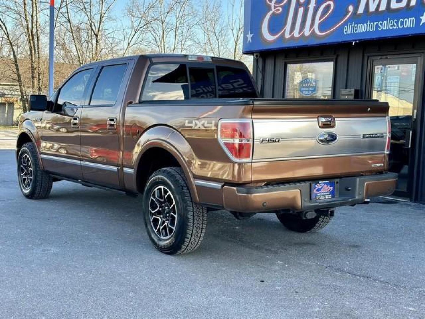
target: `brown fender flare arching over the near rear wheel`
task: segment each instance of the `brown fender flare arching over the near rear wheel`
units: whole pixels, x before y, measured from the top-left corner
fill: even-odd
[[[169,126],[155,126],[147,129],[136,143],[133,151],[134,177],[133,185],[137,185],[136,170],[143,154],[150,148],[162,148],[169,152],[181,166],[187,180],[190,194],[194,202],[199,202],[198,192],[195,187],[195,179],[192,167],[196,162],[195,154],[187,140],[176,129]]]

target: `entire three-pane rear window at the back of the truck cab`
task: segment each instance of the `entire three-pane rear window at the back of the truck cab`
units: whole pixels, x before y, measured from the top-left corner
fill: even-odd
[[[156,63],[150,66],[140,100],[257,97],[252,77],[244,68],[211,63]]]

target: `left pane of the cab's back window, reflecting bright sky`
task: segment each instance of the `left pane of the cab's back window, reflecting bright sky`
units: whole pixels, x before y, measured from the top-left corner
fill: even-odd
[[[142,101],[187,99],[189,83],[185,64],[156,64],[150,68]]]

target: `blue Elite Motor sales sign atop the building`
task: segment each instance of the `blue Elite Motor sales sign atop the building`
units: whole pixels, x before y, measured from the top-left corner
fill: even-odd
[[[425,0],[245,0],[244,52],[425,33]]]

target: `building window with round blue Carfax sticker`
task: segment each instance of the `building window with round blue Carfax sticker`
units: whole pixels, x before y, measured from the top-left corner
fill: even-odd
[[[331,99],[333,62],[289,63],[286,68],[287,99]]]

